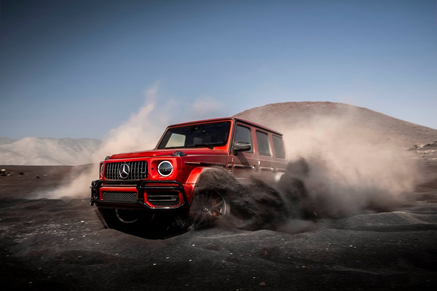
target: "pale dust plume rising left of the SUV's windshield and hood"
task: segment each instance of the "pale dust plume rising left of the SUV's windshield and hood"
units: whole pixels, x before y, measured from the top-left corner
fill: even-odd
[[[144,92],[145,103],[128,121],[109,131],[101,146],[92,154],[93,164],[87,169],[73,169],[70,177],[76,177],[52,190],[31,194],[33,198],[82,199],[90,196],[91,181],[98,179],[99,162],[108,155],[154,149],[156,143],[171,123],[222,117],[223,104],[212,96],[181,104],[159,92],[160,83],[155,82]]]

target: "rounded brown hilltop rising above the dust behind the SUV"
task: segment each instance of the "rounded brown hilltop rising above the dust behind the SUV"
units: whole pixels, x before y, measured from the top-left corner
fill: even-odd
[[[349,131],[352,136],[359,136],[375,144],[391,144],[404,149],[437,140],[436,129],[343,103],[276,103],[255,107],[235,116],[269,126],[284,134],[290,129],[296,130],[298,127],[308,126],[309,123],[316,124],[321,130],[336,123],[335,125],[348,129],[354,128],[355,130]]]

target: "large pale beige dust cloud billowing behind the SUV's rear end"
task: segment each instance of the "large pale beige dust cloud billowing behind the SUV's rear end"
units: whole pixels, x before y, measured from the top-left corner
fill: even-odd
[[[345,217],[390,211],[398,207],[419,178],[415,157],[389,143],[390,137],[368,130],[353,119],[318,116],[295,124],[278,124],[289,160],[290,176],[303,181],[313,212],[319,217]]]

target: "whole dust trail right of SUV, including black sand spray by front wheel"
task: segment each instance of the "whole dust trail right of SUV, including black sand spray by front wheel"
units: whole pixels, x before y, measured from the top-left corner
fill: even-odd
[[[232,197],[232,218],[219,226],[297,233],[314,230],[319,219],[401,206],[420,177],[417,160],[353,122],[352,114],[270,125],[284,134],[288,153],[279,181],[252,177],[239,185],[224,171],[201,177],[203,191]]]

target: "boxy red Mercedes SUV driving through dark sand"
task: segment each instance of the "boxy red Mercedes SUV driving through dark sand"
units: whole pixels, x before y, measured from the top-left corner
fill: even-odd
[[[109,228],[169,212],[194,227],[211,225],[230,213],[240,183],[278,180],[285,168],[282,135],[264,126],[234,117],[174,124],[154,150],[106,157],[90,204]]]

